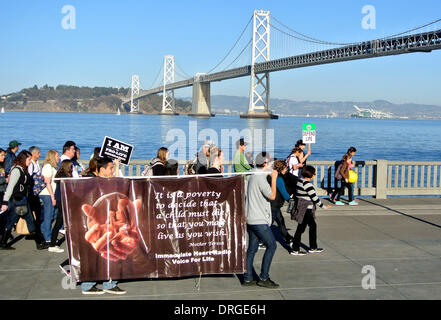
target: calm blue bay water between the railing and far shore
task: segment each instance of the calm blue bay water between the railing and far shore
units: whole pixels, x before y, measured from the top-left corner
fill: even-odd
[[[167,141],[167,133],[185,132],[179,144],[189,158],[190,146],[195,150],[202,141],[189,135],[189,127],[197,126],[203,140],[203,129],[211,128],[218,135],[218,143],[231,157],[235,146],[221,141],[222,130],[254,130],[261,136],[274,130],[274,154],[286,157],[301,139],[303,123],[315,123],[317,143],[312,145],[311,160],[336,160],[349,146],[358,149],[356,160],[441,161],[441,121],[438,120],[368,120],[281,117],[279,120],[240,119],[238,116],[216,116],[195,119],[186,115],[131,115],[83,113],[27,113],[0,114],[0,146],[6,149],[10,140],[18,140],[22,148],[38,145],[42,158],[49,149],[61,151],[66,140],[73,140],[81,148],[82,159],[88,159],[95,146],[101,146],[104,136],[134,145],[132,159],[151,159],[161,146],[169,147],[177,141]],[[259,131],[260,129],[260,131]],[[206,132],[206,131],[205,131]],[[234,141],[235,142],[235,141]],[[265,138],[262,144],[265,145]],[[232,150],[234,149],[234,150]],[[190,150],[190,151],[192,151]],[[178,158],[177,155],[174,158]],[[180,157],[183,158],[183,157]],[[183,159],[179,159],[183,160]]]

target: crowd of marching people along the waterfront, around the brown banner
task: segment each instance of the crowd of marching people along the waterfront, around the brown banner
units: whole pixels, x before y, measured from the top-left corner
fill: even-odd
[[[29,231],[27,239],[35,241],[38,250],[61,253],[64,249],[57,245],[58,234],[63,233],[63,215],[59,178],[78,177],[118,177],[122,176],[119,160],[100,157],[100,147],[94,149],[89,165],[85,169],[80,163],[80,149],[75,142],[66,141],[62,154],[49,150],[42,165],[39,162],[41,151],[38,146],[20,152],[21,143],[12,140],[7,150],[0,148],[0,250],[15,250],[11,246],[12,231],[20,218],[26,221]],[[315,168],[306,164],[311,155],[311,145],[304,153],[306,144],[297,141],[286,159],[278,160],[267,152],[261,152],[253,160],[251,153],[245,153],[248,143],[241,138],[236,143],[237,151],[233,156],[233,170],[245,173],[246,181],[246,221],[249,245],[246,254],[246,270],[243,286],[258,285],[276,288],[279,285],[269,277],[269,269],[277,245],[271,226],[276,223],[282,239],[290,248],[289,253],[302,256],[319,253],[323,249],[317,244],[317,207],[329,209],[317,197],[311,180]],[[348,172],[353,168],[354,147],[349,148],[341,161],[336,162],[336,184],[330,200],[335,205],[344,205],[340,197],[348,189],[349,205],[357,205],[353,198],[353,187]],[[224,155],[212,141],[206,140],[196,158],[187,161],[184,174],[210,174],[223,176]],[[261,174],[261,173],[267,174]],[[260,174],[259,174],[260,173]],[[179,164],[169,159],[169,151],[159,148],[156,157],[145,166],[142,176],[178,175]],[[291,219],[298,222],[294,235],[290,235],[281,208],[285,202],[293,202]],[[300,250],[301,235],[309,227],[309,250]],[[257,279],[253,262],[259,248],[265,249],[261,273]],[[103,290],[96,282],[81,284],[84,294],[124,294],[116,281],[103,283]]]

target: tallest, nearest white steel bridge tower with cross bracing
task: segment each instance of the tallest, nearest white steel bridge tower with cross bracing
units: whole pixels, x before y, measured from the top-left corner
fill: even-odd
[[[269,72],[256,74],[254,65],[270,61],[270,12],[254,10],[253,44],[251,48],[251,86],[248,113],[241,118],[277,119],[269,109],[270,78]]]

